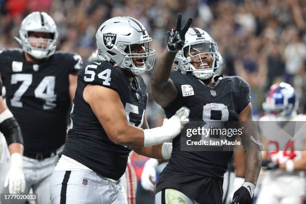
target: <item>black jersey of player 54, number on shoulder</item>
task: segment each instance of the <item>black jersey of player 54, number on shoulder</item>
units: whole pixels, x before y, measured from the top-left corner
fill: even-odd
[[[125,108],[128,123],[140,127],[147,96],[141,76],[134,76],[133,83],[134,86],[120,70],[106,61],[93,61],[80,71],[64,155],[84,164],[101,176],[115,180],[122,176],[131,147],[115,144],[108,138],[89,104],[85,102],[83,90],[87,84],[115,90]],[[107,107],[101,111],[107,111]]]

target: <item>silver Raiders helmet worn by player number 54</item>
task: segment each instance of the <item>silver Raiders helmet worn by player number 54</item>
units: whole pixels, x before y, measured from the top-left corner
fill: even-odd
[[[125,68],[135,75],[150,70],[154,65],[155,50],[149,48],[152,40],[144,26],[128,16],[113,17],[103,22],[95,34],[98,54],[114,66]],[[130,45],[143,44],[144,53],[132,53]],[[125,48],[129,47],[125,52]],[[136,66],[133,58],[143,58],[144,65]]]

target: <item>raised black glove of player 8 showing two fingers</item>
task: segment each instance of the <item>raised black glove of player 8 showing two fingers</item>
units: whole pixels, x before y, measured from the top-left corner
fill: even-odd
[[[184,45],[185,40],[185,33],[187,32],[188,28],[191,25],[192,18],[190,17],[184,28],[180,29],[180,22],[181,22],[181,14],[177,14],[176,20],[176,28],[167,31],[166,38],[167,38],[167,47],[169,51],[178,51]]]

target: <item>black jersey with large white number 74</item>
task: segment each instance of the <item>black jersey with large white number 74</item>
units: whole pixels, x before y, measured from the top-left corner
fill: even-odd
[[[77,74],[78,54],[55,51],[39,63],[26,61],[22,49],[0,50],[6,103],[18,121],[24,155],[50,152],[65,142],[70,105],[69,74]]]

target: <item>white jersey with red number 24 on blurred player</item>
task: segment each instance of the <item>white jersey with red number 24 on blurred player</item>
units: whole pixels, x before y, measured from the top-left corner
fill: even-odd
[[[285,118],[275,117],[274,115],[264,115],[260,117],[259,124],[262,135],[265,137],[265,146],[268,150],[268,159],[279,163],[286,162],[289,159],[298,160],[301,158],[301,150],[304,150],[303,143],[306,139],[304,124],[306,125],[306,115],[295,114],[285,121]],[[272,122],[277,121],[277,123]],[[281,121],[279,124],[278,121]],[[288,122],[287,122],[288,121]],[[300,121],[300,122],[294,122]],[[279,126],[281,125],[281,127]],[[290,125],[294,132],[286,132],[285,126]],[[302,125],[302,127],[300,127]],[[288,128],[287,128],[288,129]],[[293,136],[294,135],[294,136]],[[287,172],[282,169],[269,170],[267,176],[277,177],[281,175],[302,176],[301,172]]]

